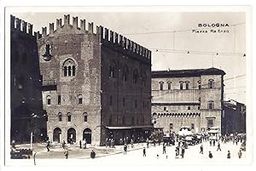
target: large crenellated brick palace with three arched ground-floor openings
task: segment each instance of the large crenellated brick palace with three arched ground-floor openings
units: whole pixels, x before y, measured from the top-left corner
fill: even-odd
[[[55,142],[148,136],[151,51],[116,32],[70,15],[38,40],[47,132]]]

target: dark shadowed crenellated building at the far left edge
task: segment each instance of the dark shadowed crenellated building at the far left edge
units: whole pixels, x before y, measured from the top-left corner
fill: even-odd
[[[17,143],[46,138],[37,34],[32,24],[10,16],[10,139]]]

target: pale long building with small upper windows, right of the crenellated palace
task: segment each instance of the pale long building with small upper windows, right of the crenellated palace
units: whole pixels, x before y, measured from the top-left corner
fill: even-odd
[[[194,133],[221,129],[225,72],[217,68],[152,71],[152,117],[164,133],[189,126]]]

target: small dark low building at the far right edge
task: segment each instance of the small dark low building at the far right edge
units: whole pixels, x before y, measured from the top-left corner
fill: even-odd
[[[236,100],[224,101],[222,134],[246,133],[246,105]]]

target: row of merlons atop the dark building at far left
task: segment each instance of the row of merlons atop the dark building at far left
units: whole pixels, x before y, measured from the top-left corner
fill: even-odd
[[[10,27],[16,31],[23,32],[29,36],[32,36],[34,40],[38,40],[38,37],[41,37],[41,34],[34,31],[33,34],[33,25],[31,23],[26,22],[25,20],[21,20],[16,18],[14,15],[10,15]]]

